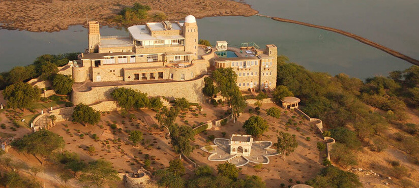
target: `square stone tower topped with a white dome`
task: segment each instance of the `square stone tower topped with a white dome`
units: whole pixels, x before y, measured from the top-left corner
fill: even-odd
[[[185,51],[192,52],[193,59],[198,58],[198,25],[195,17],[189,15],[185,18],[184,30],[185,36]]]

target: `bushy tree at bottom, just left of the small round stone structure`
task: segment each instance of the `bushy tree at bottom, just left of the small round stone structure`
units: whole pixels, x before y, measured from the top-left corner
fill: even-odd
[[[120,179],[112,164],[102,159],[89,162],[82,172],[79,181],[91,186],[102,187],[105,183],[109,184]]]

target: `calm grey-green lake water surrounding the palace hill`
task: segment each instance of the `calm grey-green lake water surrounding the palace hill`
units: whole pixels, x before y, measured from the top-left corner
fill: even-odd
[[[411,7],[417,4],[406,0],[402,0],[402,3],[387,0],[380,2],[382,4],[378,8],[373,6],[378,2],[372,0],[352,2],[248,0],[247,3],[264,15],[340,28],[419,58],[417,53],[419,35],[413,34],[419,33],[417,30],[419,26],[400,21],[403,19],[415,21],[413,17],[419,14],[419,11],[413,11]],[[397,5],[391,7],[391,3]],[[396,13],[403,10],[406,12],[399,15],[391,12],[393,9]],[[373,10],[376,14],[366,15]],[[231,45],[255,42],[262,48],[265,44],[275,44],[278,46],[279,54],[288,56],[291,61],[311,71],[327,72],[331,75],[345,73],[364,79],[374,75],[385,76],[390,71],[404,70],[411,66],[404,60],[351,38],[269,18],[226,16],[198,19],[197,22],[200,39],[207,39],[212,44],[217,40],[226,40]],[[125,29],[118,30],[106,26],[101,28],[103,36],[123,34],[126,34]],[[86,46],[87,29],[80,25],[53,33],[2,29],[0,30],[2,56],[0,70],[8,71],[14,66],[29,65],[41,54],[83,51]]]

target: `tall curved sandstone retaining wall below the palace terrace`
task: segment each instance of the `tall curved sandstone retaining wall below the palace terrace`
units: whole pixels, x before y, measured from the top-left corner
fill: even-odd
[[[91,105],[99,101],[109,101],[112,100],[110,93],[113,89],[117,87],[127,87],[137,89],[141,92],[146,92],[150,97],[164,96],[168,99],[184,97],[191,103],[202,103],[204,102],[202,93],[202,88],[204,87],[204,77],[205,76],[181,82],[92,87],[92,89],[88,91],[76,91],[73,89],[71,93],[71,101],[75,105],[80,103]]]

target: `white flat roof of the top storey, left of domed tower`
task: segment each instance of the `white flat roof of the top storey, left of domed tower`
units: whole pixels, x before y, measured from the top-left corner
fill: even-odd
[[[151,30],[165,30],[161,22],[152,22],[147,23],[148,28]],[[182,27],[178,23],[172,23],[172,29],[170,30],[182,30]],[[146,28],[146,25],[133,25],[128,27],[128,32],[131,36],[137,41],[143,40],[163,40],[163,39],[185,39],[181,35],[171,35],[171,36],[152,36],[151,33]]]

